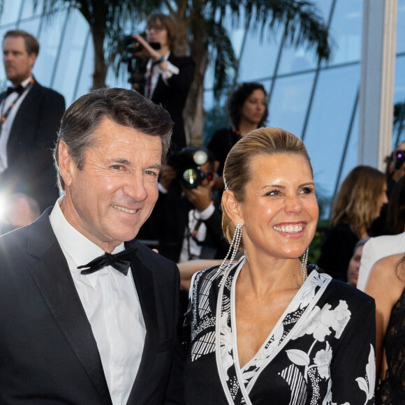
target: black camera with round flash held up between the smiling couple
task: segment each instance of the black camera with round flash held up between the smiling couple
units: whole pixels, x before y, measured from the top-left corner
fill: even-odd
[[[168,165],[175,168],[177,179],[185,189],[196,189],[202,180],[211,181],[214,178],[213,172],[201,170],[201,166],[207,162],[214,163],[214,160],[211,152],[202,147],[184,147],[168,156]]]

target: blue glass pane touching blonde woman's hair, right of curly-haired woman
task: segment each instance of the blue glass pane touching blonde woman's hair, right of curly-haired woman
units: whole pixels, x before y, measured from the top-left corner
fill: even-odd
[[[276,79],[270,100],[268,125],[284,128],[297,136],[302,135],[314,77],[315,73],[307,73]]]

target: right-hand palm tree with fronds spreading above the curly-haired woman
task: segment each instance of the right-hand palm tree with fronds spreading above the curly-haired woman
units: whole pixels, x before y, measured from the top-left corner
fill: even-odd
[[[284,30],[284,40],[294,46],[315,48],[318,61],[330,57],[327,27],[312,1],[297,0],[164,0],[177,22],[185,24],[189,34],[189,50],[196,61],[196,76],[185,108],[185,123],[192,143],[202,138],[204,111],[202,99],[204,78],[209,62],[214,63],[214,96],[233,87],[237,78],[238,61],[228,32],[223,26],[226,15],[235,24],[260,29]],[[243,20],[240,19],[243,14]],[[214,55],[214,57],[212,57]],[[210,58],[211,56],[211,58]]]

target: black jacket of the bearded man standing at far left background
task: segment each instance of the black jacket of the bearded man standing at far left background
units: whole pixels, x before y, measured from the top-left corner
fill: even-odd
[[[5,97],[1,94],[0,101]],[[8,138],[8,168],[0,174],[0,189],[26,193],[38,202],[41,212],[59,196],[52,149],[64,110],[64,96],[34,82]]]

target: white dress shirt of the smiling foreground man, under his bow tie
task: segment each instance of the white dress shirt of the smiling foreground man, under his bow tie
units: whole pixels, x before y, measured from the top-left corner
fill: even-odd
[[[112,404],[124,405],[138,372],[146,334],[132,273],[125,276],[108,266],[80,274],[78,266],[105,252],[66,221],[59,207],[62,198],[52,209],[50,223],[96,339]],[[112,253],[123,250],[124,242]]]

